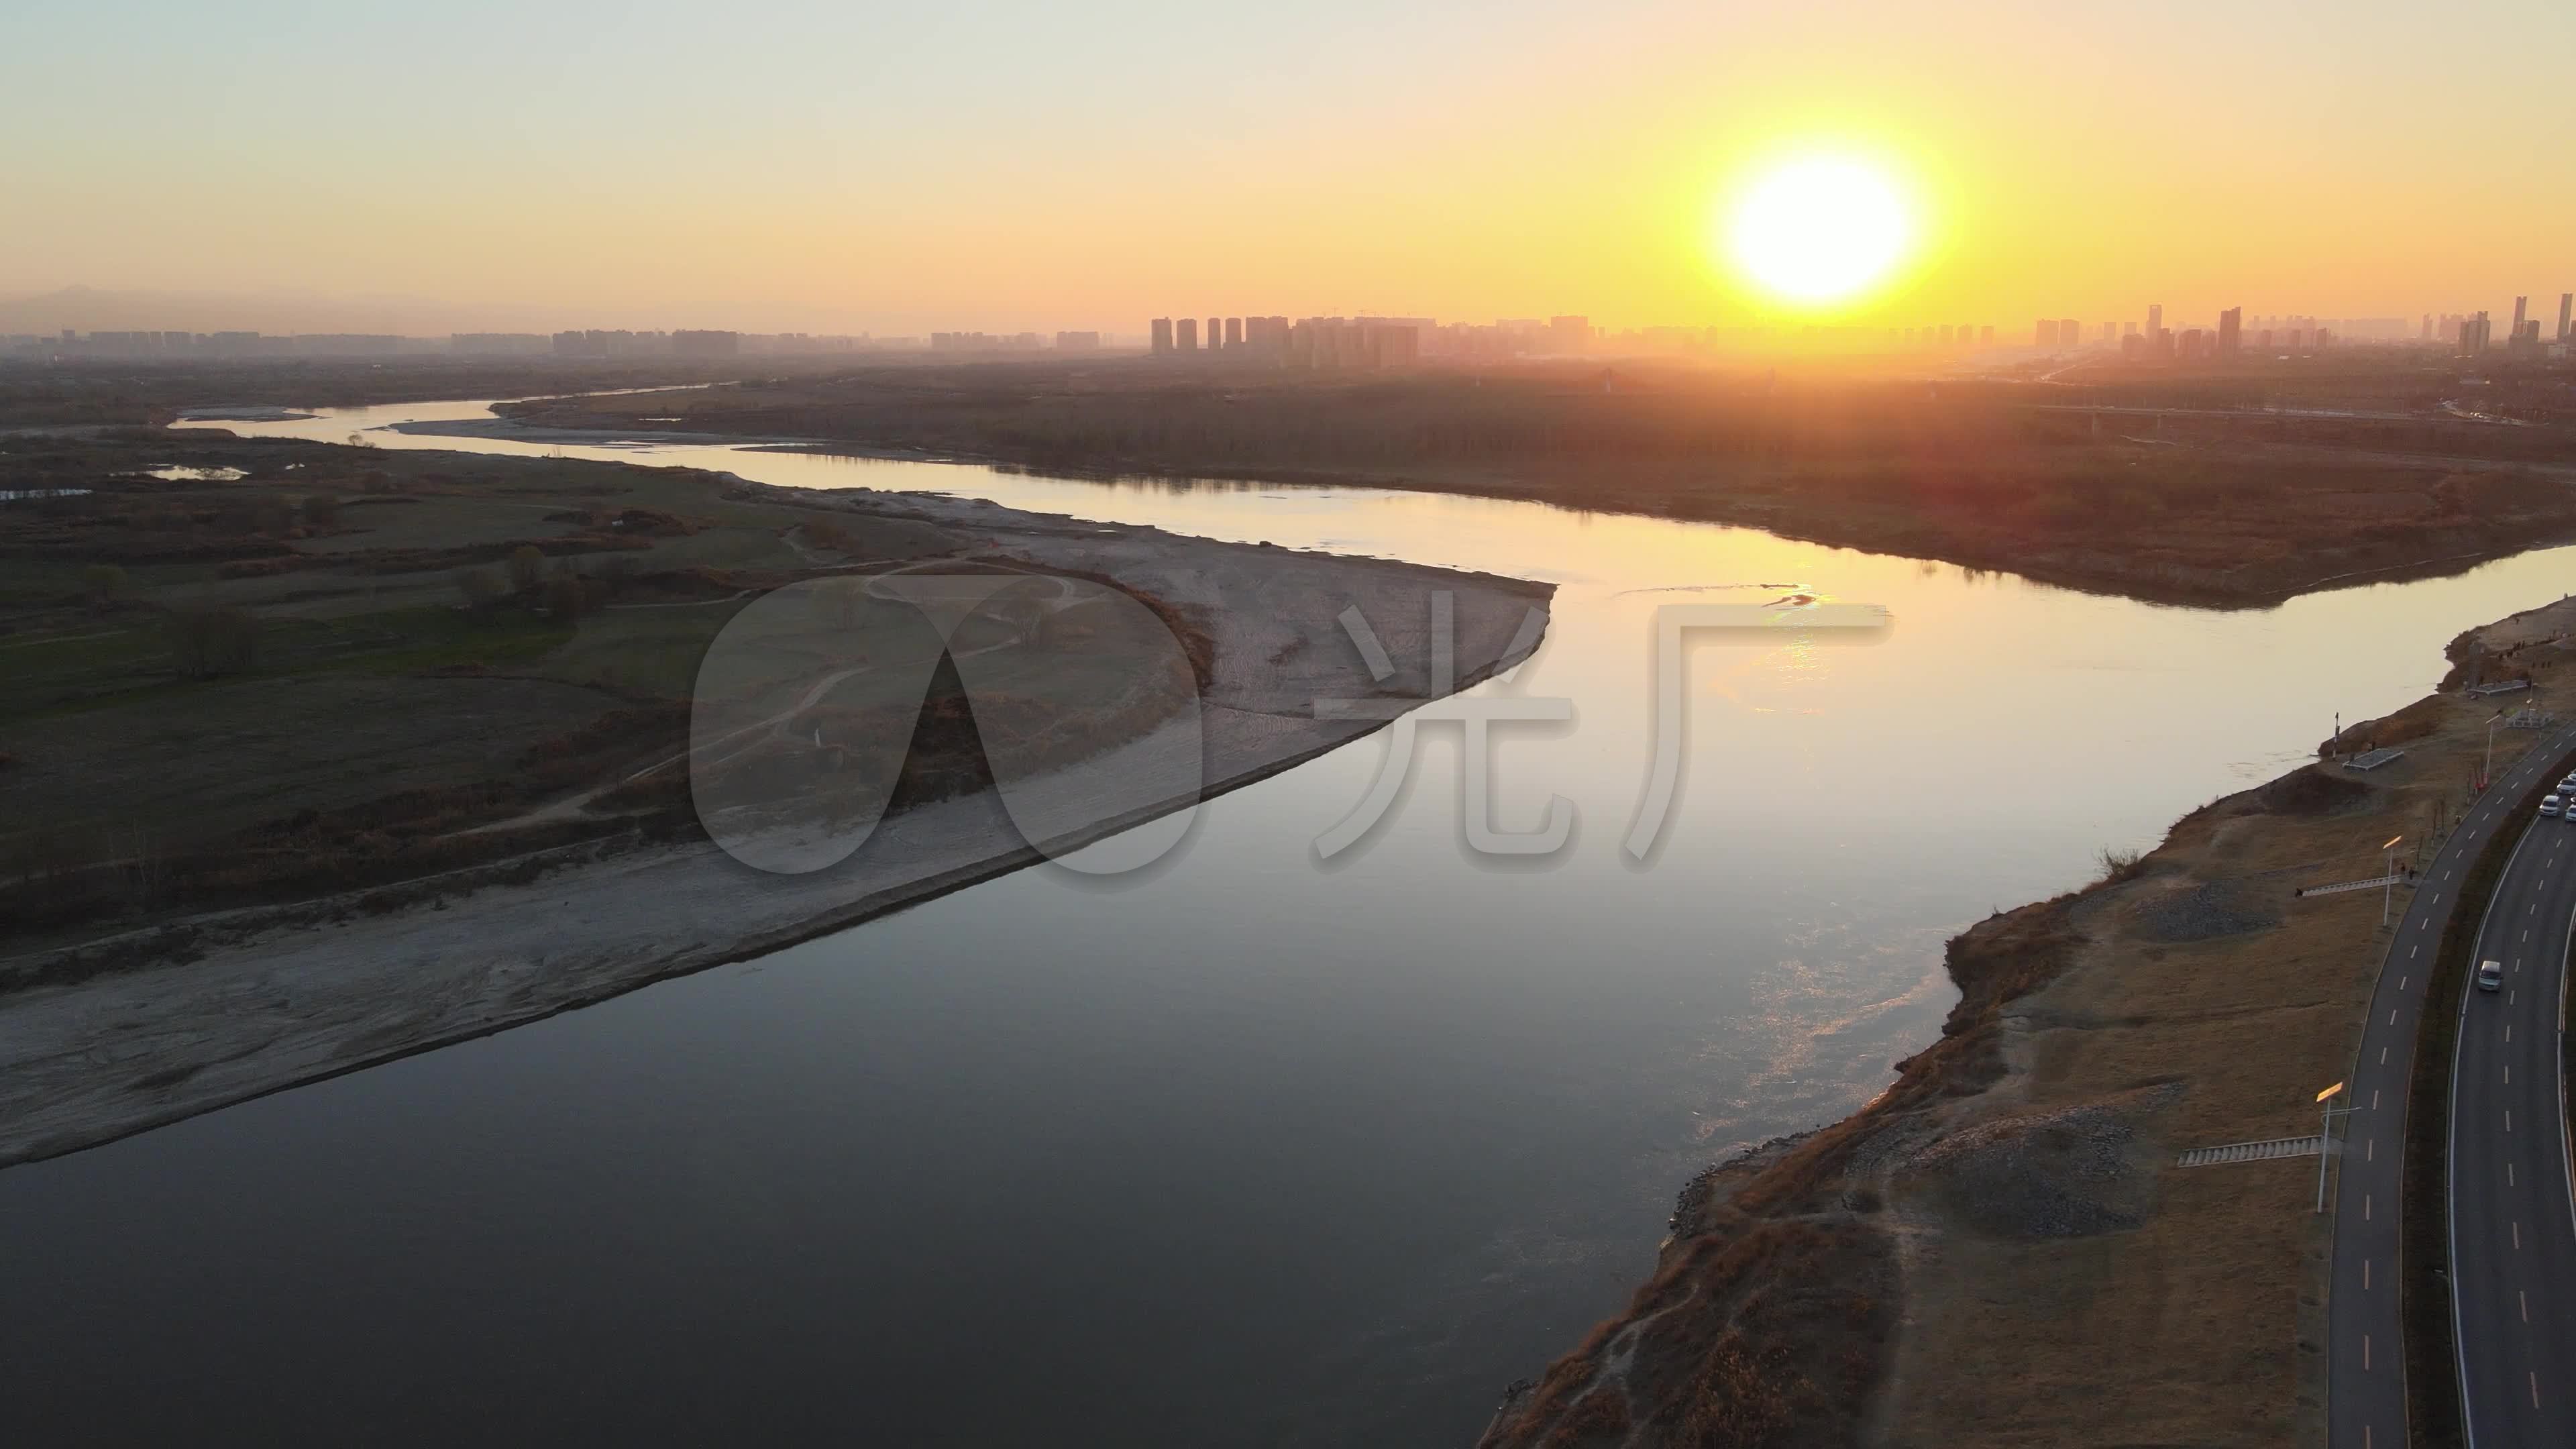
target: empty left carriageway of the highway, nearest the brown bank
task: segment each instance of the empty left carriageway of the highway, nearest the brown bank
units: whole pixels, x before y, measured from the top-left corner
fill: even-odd
[[[2432,972],[2442,931],[2460,908],[2460,877],[2499,833],[2512,835],[2532,825],[2512,815],[2509,804],[2522,799],[2543,771],[2555,773],[2571,753],[2576,753],[2576,727],[2535,740],[2496,773],[2481,804],[2424,866],[2414,900],[2406,902],[2406,915],[2388,941],[2388,957],[2370,995],[2370,1016],[2362,1024],[2362,1044],[2344,1078],[2349,1085],[2342,1098],[2352,1114],[2339,1122],[2342,1168],[2334,1176],[2334,1250],[2326,1266],[2329,1449],[2396,1449],[2409,1441],[2406,1338],[2398,1315],[2398,1183],[2406,1158],[2406,1078],[2414,1065],[2416,1029],[2424,1021],[2424,977]],[[2550,825],[2576,830],[2563,820],[2550,820]],[[2568,848],[2576,851],[2576,835],[2571,835]],[[2517,869],[2522,864],[2514,861]],[[2561,874],[2568,871],[2576,871],[2576,864]],[[2468,905],[2486,910],[2486,902]],[[2555,985],[2550,990],[2555,1000]],[[2530,998],[2517,998],[2517,1008],[2522,1000]],[[2527,1036],[2527,1031],[2514,1036]],[[2527,1078],[2527,1073],[2517,1075]],[[2439,1109],[2439,1104],[2427,1109]],[[2566,1217],[2558,1222],[2566,1227]],[[2558,1361],[2568,1364],[2571,1359]],[[2488,1444],[2514,1441],[2501,1439],[2499,1431],[2499,1439]],[[2532,1444],[2576,1444],[2576,1439],[2535,1439]]]

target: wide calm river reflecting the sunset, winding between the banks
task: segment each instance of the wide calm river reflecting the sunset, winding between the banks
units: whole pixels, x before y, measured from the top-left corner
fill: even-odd
[[[1347,487],[1103,485],[729,446],[379,431],[940,490],[1558,585],[1497,820],[1455,730],[1316,861],[1386,735],[1200,810],[1133,877],[1028,869],[773,957],[0,1173],[0,1392],[54,1439],[1466,1444],[1625,1302],[1703,1163],[1929,1039],[1942,941],[2424,694],[2576,549],[2267,611],[1747,529]],[[1620,853],[1662,606],[1880,603],[1708,639],[1664,848]],[[2354,859],[2378,838],[2357,838]],[[2375,856],[2372,856],[2375,859]]]

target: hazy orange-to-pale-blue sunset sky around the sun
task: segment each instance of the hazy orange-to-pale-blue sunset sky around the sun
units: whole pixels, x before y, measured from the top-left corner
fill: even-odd
[[[2566,0],[54,0],[0,34],[0,294],[1723,325],[1772,304],[1713,217],[1814,142],[1932,229],[1857,322],[2576,289]]]

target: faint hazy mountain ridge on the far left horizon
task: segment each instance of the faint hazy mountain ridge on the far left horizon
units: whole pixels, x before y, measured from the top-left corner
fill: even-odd
[[[497,309],[451,307],[417,297],[312,297],[296,291],[106,291],[64,286],[0,302],[0,333],[404,333],[443,338],[461,330],[528,330]]]

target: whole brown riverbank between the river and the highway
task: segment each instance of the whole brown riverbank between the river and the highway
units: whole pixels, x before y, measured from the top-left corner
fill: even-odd
[[[2509,699],[2550,709],[2571,629],[2576,603],[2470,629],[2445,694],[2339,740],[2396,763],[2215,799],[1953,938],[1942,1036],[1695,1178],[1631,1307],[1484,1446],[2324,1444],[2316,1158],[2177,1158],[2316,1132],[2388,946],[2378,892],[2293,890],[2383,874],[2391,835],[2429,859],[2494,714],[2458,686],[2524,676]]]

